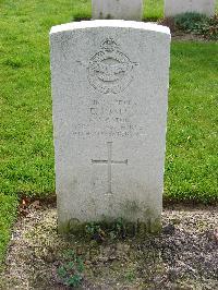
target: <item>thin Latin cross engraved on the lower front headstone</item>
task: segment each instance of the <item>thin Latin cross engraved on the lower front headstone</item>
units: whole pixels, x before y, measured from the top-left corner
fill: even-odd
[[[128,165],[128,159],[123,161],[112,160],[112,142],[107,142],[108,148],[108,160],[94,160],[92,159],[92,164],[96,165],[108,165],[108,192],[107,194],[112,194],[111,182],[112,182],[112,165]]]

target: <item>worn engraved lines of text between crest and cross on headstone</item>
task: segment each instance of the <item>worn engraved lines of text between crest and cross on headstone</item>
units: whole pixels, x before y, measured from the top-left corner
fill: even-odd
[[[144,131],[144,125],[134,121],[138,113],[138,105],[134,98],[90,99],[84,113],[86,120],[81,118],[81,122],[75,124],[73,136],[137,137]]]

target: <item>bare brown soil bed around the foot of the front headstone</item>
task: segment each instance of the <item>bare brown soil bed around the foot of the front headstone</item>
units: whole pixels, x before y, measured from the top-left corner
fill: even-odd
[[[162,232],[102,242],[57,233],[57,210],[37,206],[14,226],[0,289],[70,289],[63,251],[85,263],[81,289],[218,289],[218,207],[167,208]]]

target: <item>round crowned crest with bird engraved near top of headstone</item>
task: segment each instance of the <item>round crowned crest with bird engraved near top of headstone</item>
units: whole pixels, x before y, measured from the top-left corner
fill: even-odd
[[[132,82],[136,65],[138,63],[131,62],[112,38],[107,38],[88,63],[88,81],[100,93],[118,94]]]

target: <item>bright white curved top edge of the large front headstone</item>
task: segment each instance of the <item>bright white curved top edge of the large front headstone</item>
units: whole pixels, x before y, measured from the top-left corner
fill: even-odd
[[[96,28],[96,27],[144,29],[156,33],[162,33],[170,36],[170,29],[167,26],[149,22],[144,23],[144,22],[123,21],[123,20],[96,20],[96,21],[72,22],[72,23],[52,26],[50,34],[58,34],[73,29],[85,29],[85,28]]]

